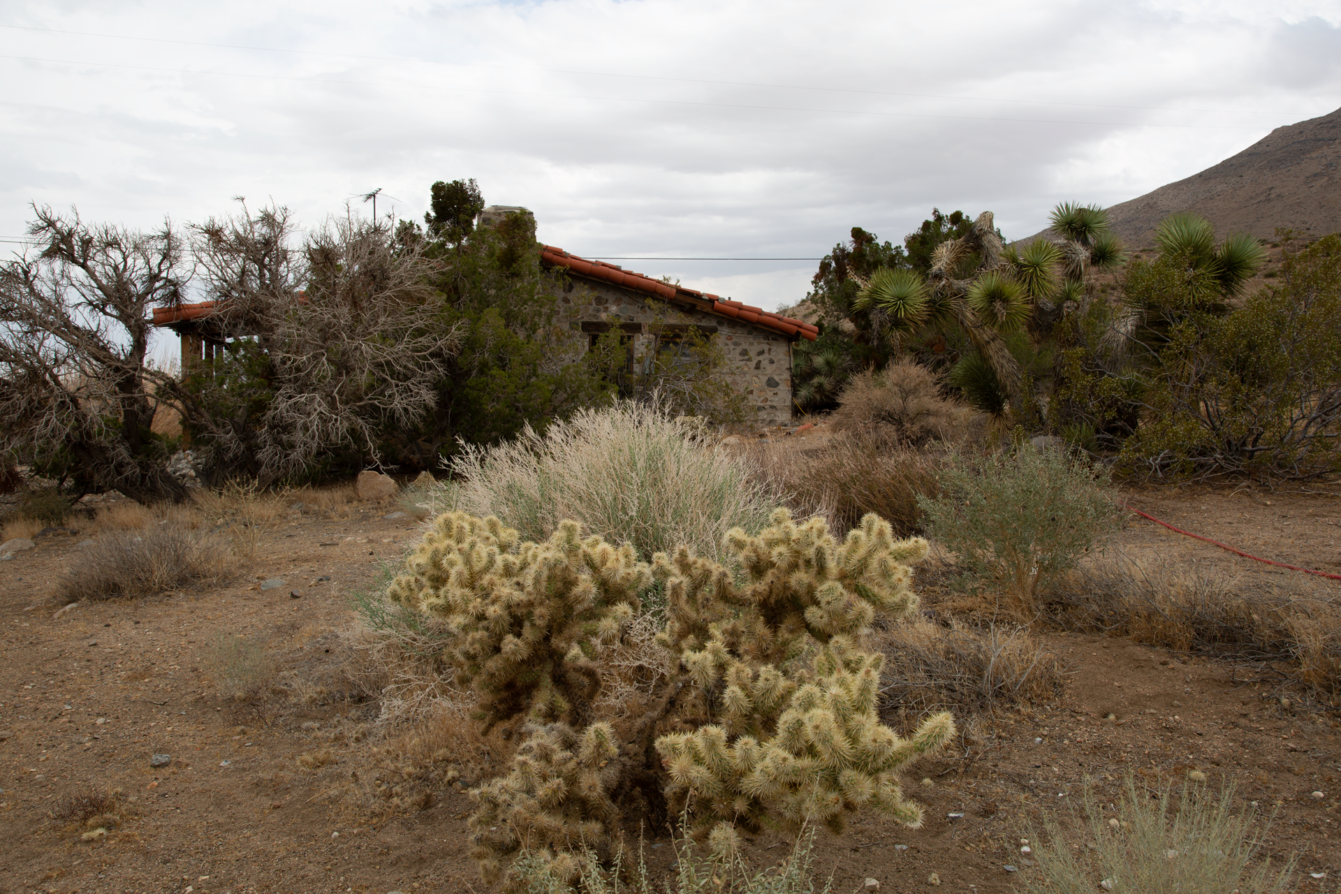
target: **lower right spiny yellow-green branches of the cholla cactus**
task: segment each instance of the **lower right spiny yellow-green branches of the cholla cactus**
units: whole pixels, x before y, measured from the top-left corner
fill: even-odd
[[[841,832],[846,814],[868,807],[916,828],[921,807],[902,796],[898,773],[949,741],[955,724],[948,713],[936,714],[912,739],[882,725],[881,662],[837,638],[815,657],[814,681],[786,700],[771,737],[731,737],[719,725],[662,736],[657,751],[669,793],[688,799],[696,827],[716,826],[719,836],[735,824],[755,830],[764,816],[790,828],[819,822]]]

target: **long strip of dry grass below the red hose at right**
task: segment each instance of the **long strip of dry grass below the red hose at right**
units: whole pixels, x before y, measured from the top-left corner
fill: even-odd
[[[1110,551],[1075,568],[1051,609],[1063,626],[1187,653],[1286,662],[1324,698],[1341,701],[1341,599],[1303,578],[1251,590],[1196,567]]]

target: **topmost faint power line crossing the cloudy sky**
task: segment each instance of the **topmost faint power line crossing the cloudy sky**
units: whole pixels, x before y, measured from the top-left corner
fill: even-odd
[[[429,66],[452,66],[457,68],[487,68],[493,71],[530,71],[535,74],[551,74],[551,75],[583,75],[591,78],[628,78],[632,80],[666,80],[673,83],[691,83],[691,84],[711,84],[717,87],[764,87],[768,90],[813,90],[818,92],[849,92],[849,94],[864,94],[870,97],[904,97],[912,99],[959,99],[964,102],[1003,102],[1023,106],[1074,106],[1078,109],[1128,109],[1136,111],[1199,111],[1210,114],[1274,114],[1271,111],[1258,111],[1258,110],[1243,110],[1243,109],[1171,109],[1164,106],[1121,106],[1112,103],[1097,103],[1097,102],[1058,102],[1050,99],[1008,99],[998,97],[959,97],[953,94],[932,94],[932,92],[896,92],[892,90],[861,90],[854,87],[813,87],[809,84],[771,84],[754,80],[709,80],[707,78],[670,78],[666,75],[632,75],[618,71],[583,71],[581,68],[538,68],[538,67],[523,67],[523,66],[491,66],[477,62],[441,62],[437,59],[413,59],[410,56],[374,56],[365,54],[353,52],[325,52],[319,50],[288,50],[283,47],[253,47],[248,44],[236,43],[209,43],[204,40],[177,40],[172,38],[139,38],[135,35],[119,35],[119,34],[105,34],[99,31],[70,31],[63,28],[38,28],[34,25],[7,25],[0,24],[0,28],[9,28],[13,31],[40,31],[46,34],[66,34],[76,35],[82,38],[107,38],[111,40],[142,40],[146,43],[170,43],[184,47],[213,47],[216,50],[249,50],[255,52],[279,52],[296,56],[326,56],[334,59],[366,59],[369,62],[398,62],[398,63],[420,63]]]

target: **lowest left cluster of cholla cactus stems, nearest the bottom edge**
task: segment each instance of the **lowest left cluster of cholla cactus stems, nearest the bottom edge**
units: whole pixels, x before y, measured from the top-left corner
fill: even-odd
[[[609,856],[618,818],[610,792],[618,783],[620,752],[609,724],[581,733],[565,724],[527,732],[511,772],[471,792],[479,804],[468,822],[471,855],[484,881],[502,881],[506,891],[526,890],[511,867],[504,870],[523,847],[532,860],[575,885],[585,860]]]

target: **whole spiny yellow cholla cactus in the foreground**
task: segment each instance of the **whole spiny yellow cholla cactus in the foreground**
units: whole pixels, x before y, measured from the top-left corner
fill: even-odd
[[[862,808],[920,823],[898,773],[953,722],[936,714],[909,739],[884,726],[882,657],[857,643],[877,610],[916,610],[909,564],[927,543],[896,541],[876,516],[841,546],[818,517],[797,524],[778,509],[770,521],[727,533],[728,570],[684,546],[649,566],[570,520],[523,543],[498,519],[437,519],[388,595],[448,622],[447,661],[483,724],[526,724],[507,773],[472,793],[487,881],[526,890],[515,862],[531,855],[574,885],[591,854],[611,859],[625,816],[683,811],[721,852],[738,826],[837,831]],[[657,642],[677,663],[648,684],[646,710],[618,716],[598,708],[598,659],[654,579]]]

